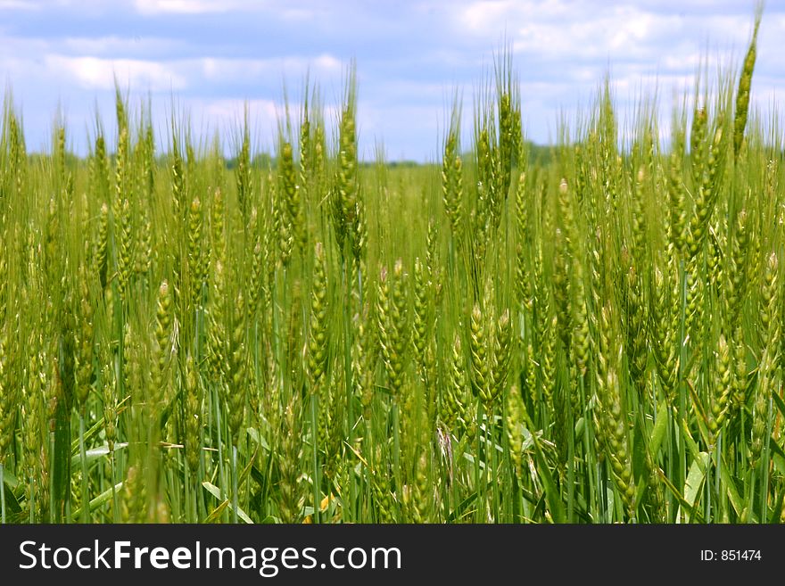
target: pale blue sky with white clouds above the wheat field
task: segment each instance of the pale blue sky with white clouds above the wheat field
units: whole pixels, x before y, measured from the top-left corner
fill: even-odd
[[[84,152],[96,110],[113,130],[113,78],[131,102],[151,98],[165,134],[173,106],[197,136],[218,129],[227,148],[248,103],[259,148],[272,142],[284,82],[299,102],[306,71],[328,118],[351,59],[359,132],[369,158],[434,160],[452,95],[471,102],[503,42],[513,47],[527,135],[546,143],[559,116],[587,107],[609,69],[630,111],[658,88],[691,87],[702,56],[739,64],[754,0],[0,0],[0,77],[21,110],[28,147],[46,148],[58,111]],[[769,0],[753,107],[785,97],[785,1]],[[468,144],[468,137],[466,137]]]

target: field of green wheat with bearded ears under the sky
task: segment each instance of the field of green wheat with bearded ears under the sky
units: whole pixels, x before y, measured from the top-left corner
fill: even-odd
[[[434,165],[359,161],[351,69],[335,133],[306,88],[231,160],[178,120],[157,149],[120,91],[87,158],[64,125],[28,153],[9,95],[3,522],[785,519],[759,21],[666,131],[606,84],[547,148],[502,51]]]

